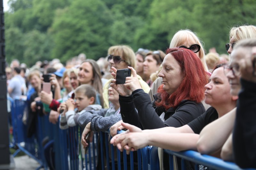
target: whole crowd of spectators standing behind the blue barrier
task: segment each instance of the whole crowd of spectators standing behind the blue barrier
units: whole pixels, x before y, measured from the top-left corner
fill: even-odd
[[[256,26],[234,26],[223,48],[230,55],[215,48],[205,55],[203,42],[186,29],[165,53],[116,45],[98,61],[80,54],[66,66],[54,59],[28,69],[13,60],[5,69],[7,95],[28,101],[28,137],[36,133],[37,116],[49,114],[60,129],[81,126],[84,148],[88,134],[92,142],[93,131],[108,129],[110,143],[128,154],[154,146],[160,168],[169,167],[162,149],[256,168]],[[131,76],[116,84],[117,70],[127,68]]]

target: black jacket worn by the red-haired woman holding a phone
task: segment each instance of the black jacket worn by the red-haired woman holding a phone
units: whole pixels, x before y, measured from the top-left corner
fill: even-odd
[[[155,100],[157,99],[155,98]],[[141,129],[181,127],[205,112],[202,103],[190,100],[183,100],[177,108],[171,107],[165,111],[164,107],[154,105],[155,100],[151,102],[148,93],[142,89],[135,90],[128,97],[119,95],[122,120]],[[165,113],[164,122],[159,118],[163,112]]]

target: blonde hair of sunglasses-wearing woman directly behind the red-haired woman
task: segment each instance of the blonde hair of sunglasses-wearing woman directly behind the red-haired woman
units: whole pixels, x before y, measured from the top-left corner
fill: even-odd
[[[175,33],[172,37],[169,48],[179,47],[180,45],[182,45],[181,43],[188,41],[188,40],[195,41],[195,43],[201,47],[200,51],[199,51],[199,58],[204,65],[204,69],[206,71],[208,71],[208,68],[207,68],[207,65],[205,62],[205,58],[204,58],[205,54],[204,54],[204,48],[202,45],[202,41],[197,37],[196,33],[192,32],[191,30],[189,30],[189,29],[180,30],[177,33]]]

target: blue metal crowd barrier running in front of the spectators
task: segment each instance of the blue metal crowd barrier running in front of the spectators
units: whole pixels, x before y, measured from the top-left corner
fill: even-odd
[[[27,114],[27,103],[24,100],[11,101],[13,141],[10,146],[16,145],[19,148],[13,155],[15,156],[20,151],[25,152],[40,164],[38,168],[47,169],[42,141],[44,137],[49,137],[49,140],[53,140],[54,166],[57,170],[95,170],[98,161],[101,163],[101,169],[108,170],[159,169],[158,153],[153,152],[151,147],[138,150],[137,159],[134,159],[134,152],[131,152],[129,156],[126,155],[125,151],[121,154],[116,147],[109,144],[111,139],[109,132],[94,133],[93,142],[90,143],[87,154],[84,154],[80,146],[83,129],[76,126],[62,130],[59,128],[59,123],[53,125],[49,122],[48,115],[38,116],[36,134],[28,138],[26,137],[26,125],[22,123],[23,113]],[[118,133],[122,132],[124,131]],[[195,151],[173,152],[164,150],[164,152],[169,154],[170,169],[174,168],[173,155],[181,158],[182,169],[185,169],[184,160],[194,162],[195,169],[198,169],[199,165],[204,165],[210,169],[240,169],[234,163],[209,155],[201,155]]]

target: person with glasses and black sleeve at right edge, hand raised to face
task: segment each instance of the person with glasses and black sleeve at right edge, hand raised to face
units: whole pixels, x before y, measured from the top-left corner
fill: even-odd
[[[240,76],[241,91],[237,102],[233,131],[234,159],[242,168],[256,168],[256,39],[237,43],[231,54],[232,76]],[[236,66],[237,65],[237,66]],[[233,86],[234,91],[236,85]],[[231,143],[231,142],[230,142]]]

